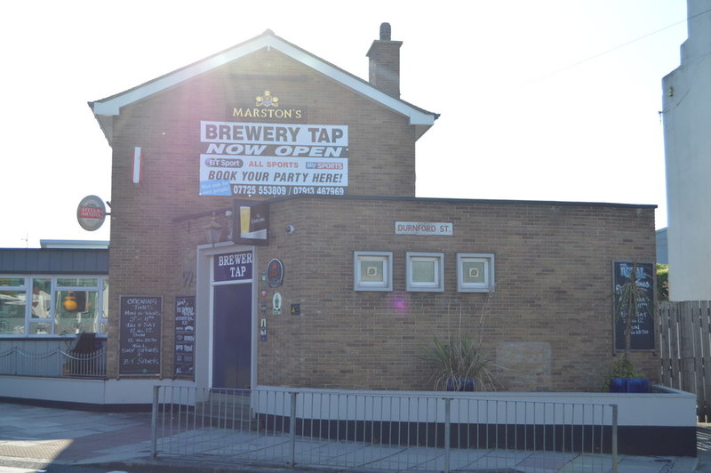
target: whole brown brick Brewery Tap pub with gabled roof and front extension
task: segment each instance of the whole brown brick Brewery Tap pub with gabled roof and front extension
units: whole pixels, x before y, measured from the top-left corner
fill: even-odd
[[[400,99],[400,46],[384,25],[366,82],[267,31],[90,103],[109,379],[432,389],[422,347],[463,331],[499,390],[600,389],[613,262],[655,261],[654,207],[416,198],[437,115]]]

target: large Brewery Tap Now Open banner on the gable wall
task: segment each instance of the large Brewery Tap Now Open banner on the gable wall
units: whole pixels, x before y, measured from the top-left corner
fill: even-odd
[[[348,126],[200,122],[201,196],[342,196]]]

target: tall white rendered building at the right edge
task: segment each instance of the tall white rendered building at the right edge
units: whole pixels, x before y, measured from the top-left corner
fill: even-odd
[[[711,1],[687,9],[681,65],[662,80],[672,301],[711,300]]]

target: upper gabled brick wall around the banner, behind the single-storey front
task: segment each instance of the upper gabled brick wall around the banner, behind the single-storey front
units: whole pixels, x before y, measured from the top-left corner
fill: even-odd
[[[199,196],[200,121],[248,121],[230,116],[253,107],[269,90],[283,108],[300,108],[308,124],[349,127],[348,194],[414,196],[414,130],[407,118],[333,83],[272,49],[261,50],[203,76],[122,108],[113,124],[111,314],[118,296],[164,296],[172,315],[175,295],[186,295],[184,273],[204,244],[208,219],[174,219],[229,208],[225,196]],[[275,120],[276,121],[276,120]],[[285,123],[290,123],[286,121]],[[143,153],[142,178],[132,183],[133,148]],[[259,199],[259,196],[253,197]],[[194,264],[194,261],[192,261]],[[189,291],[188,291],[189,293]],[[172,373],[172,321],[164,317],[164,369]],[[109,376],[117,373],[118,319],[109,324]]]

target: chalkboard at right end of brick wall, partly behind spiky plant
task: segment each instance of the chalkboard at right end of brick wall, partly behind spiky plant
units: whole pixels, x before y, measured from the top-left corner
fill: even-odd
[[[612,263],[612,283],[614,285],[615,349],[625,349],[625,317],[627,314],[619,310],[619,290],[632,277],[633,267],[636,268],[637,285],[643,287],[646,301],[637,305],[637,317],[630,326],[632,337],[630,348],[636,350],[654,349],[654,265],[652,263],[633,263],[632,261],[615,261]]]

